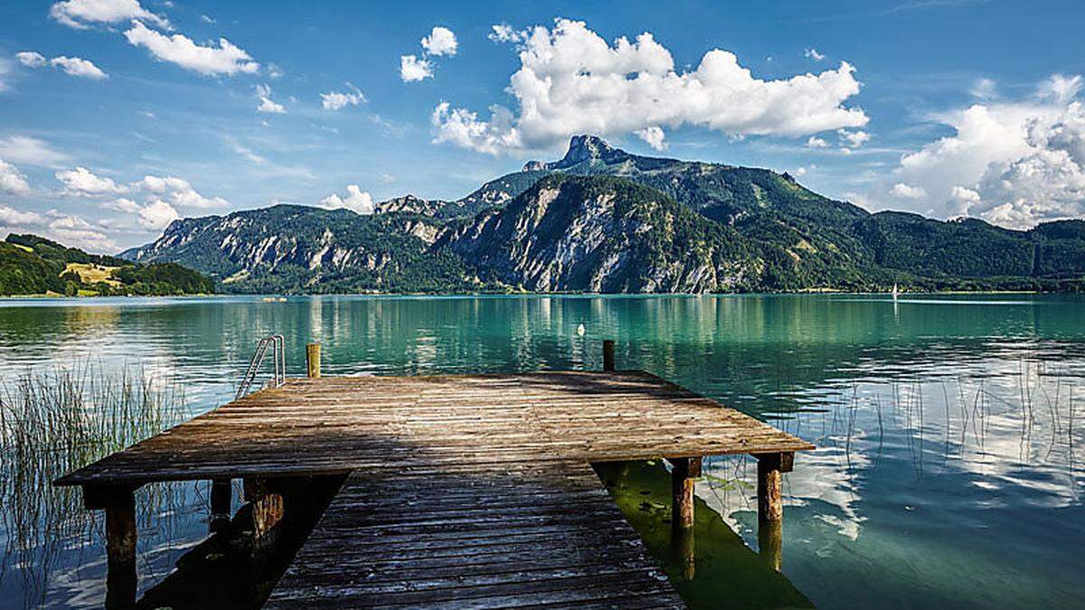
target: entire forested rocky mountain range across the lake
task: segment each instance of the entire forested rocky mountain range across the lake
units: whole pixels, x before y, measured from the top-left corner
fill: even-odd
[[[359,216],[279,205],[177,220],[122,254],[237,292],[1077,290],[1085,223],[1013,231],[869,212],[788,174],[629,154],[576,136],[456,201]]]

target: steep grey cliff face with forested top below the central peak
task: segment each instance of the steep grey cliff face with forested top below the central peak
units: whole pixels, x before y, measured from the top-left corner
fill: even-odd
[[[756,275],[732,230],[615,178],[549,176],[437,246],[502,284],[539,292],[727,291]]]

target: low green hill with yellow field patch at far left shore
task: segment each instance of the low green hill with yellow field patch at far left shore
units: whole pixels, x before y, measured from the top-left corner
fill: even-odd
[[[207,294],[215,285],[174,263],[141,265],[31,234],[0,242],[0,294]]]

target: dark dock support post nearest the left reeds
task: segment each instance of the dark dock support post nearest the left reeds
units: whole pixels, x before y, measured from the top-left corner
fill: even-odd
[[[82,488],[89,509],[105,509],[105,607],[136,607],[136,487],[128,485]]]

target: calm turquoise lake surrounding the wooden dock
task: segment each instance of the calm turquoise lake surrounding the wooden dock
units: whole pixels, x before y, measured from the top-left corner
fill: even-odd
[[[179,384],[188,417],[232,397],[268,333],[291,376],[311,341],[326,374],[420,374],[600,369],[615,339],[618,368],[816,444],[784,478],[782,574],[755,552],[753,460],[705,460],[695,573],[665,548],[663,465],[601,470],[693,607],[1085,607],[1085,297],[0,300],[0,392],[28,370],[136,367]],[[42,484],[49,463],[0,482],[0,608],[102,602],[101,517]],[[206,485],[151,487],[141,589],[207,529]]]

